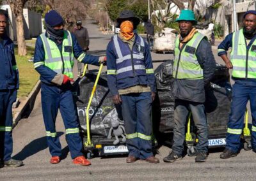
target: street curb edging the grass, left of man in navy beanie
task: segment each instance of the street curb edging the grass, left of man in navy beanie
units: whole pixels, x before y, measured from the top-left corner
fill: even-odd
[[[32,103],[33,101],[35,101],[36,96],[40,91],[40,89],[41,89],[41,81],[38,80],[38,82],[36,82],[35,87],[29,93],[28,98],[24,100],[25,101],[24,106],[20,108],[19,112],[16,112],[15,115],[13,115],[13,128],[18,124],[19,120],[21,119],[21,115],[24,113],[24,111],[27,110],[27,108],[31,109]]]

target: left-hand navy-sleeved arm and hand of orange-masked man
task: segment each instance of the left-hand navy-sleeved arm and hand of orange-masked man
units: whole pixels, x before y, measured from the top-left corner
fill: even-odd
[[[119,104],[121,102],[118,89],[117,89],[117,84],[116,84],[116,57],[115,53],[113,50],[113,41],[111,40],[108,43],[107,47],[107,78],[108,78],[108,87],[109,91],[111,92],[113,96],[113,103]]]

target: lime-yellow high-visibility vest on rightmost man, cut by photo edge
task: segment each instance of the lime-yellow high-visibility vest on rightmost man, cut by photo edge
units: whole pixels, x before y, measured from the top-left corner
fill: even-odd
[[[256,78],[256,40],[247,50],[243,29],[233,33],[230,61],[233,65],[232,76],[236,78]]]

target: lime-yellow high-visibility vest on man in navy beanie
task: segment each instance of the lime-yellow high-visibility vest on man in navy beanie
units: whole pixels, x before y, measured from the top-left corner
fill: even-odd
[[[44,65],[52,69],[56,73],[67,75],[69,78],[74,78],[72,68],[74,66],[73,43],[69,31],[64,31],[64,38],[62,41],[62,52],[60,52],[56,43],[50,38],[41,34],[45,51]]]

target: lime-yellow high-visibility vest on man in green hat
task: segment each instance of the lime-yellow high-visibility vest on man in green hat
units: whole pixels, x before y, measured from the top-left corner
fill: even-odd
[[[195,33],[193,38],[179,48],[179,37],[175,39],[173,77],[177,79],[202,79],[204,78],[203,69],[196,58],[196,48],[205,38],[201,33]]]

